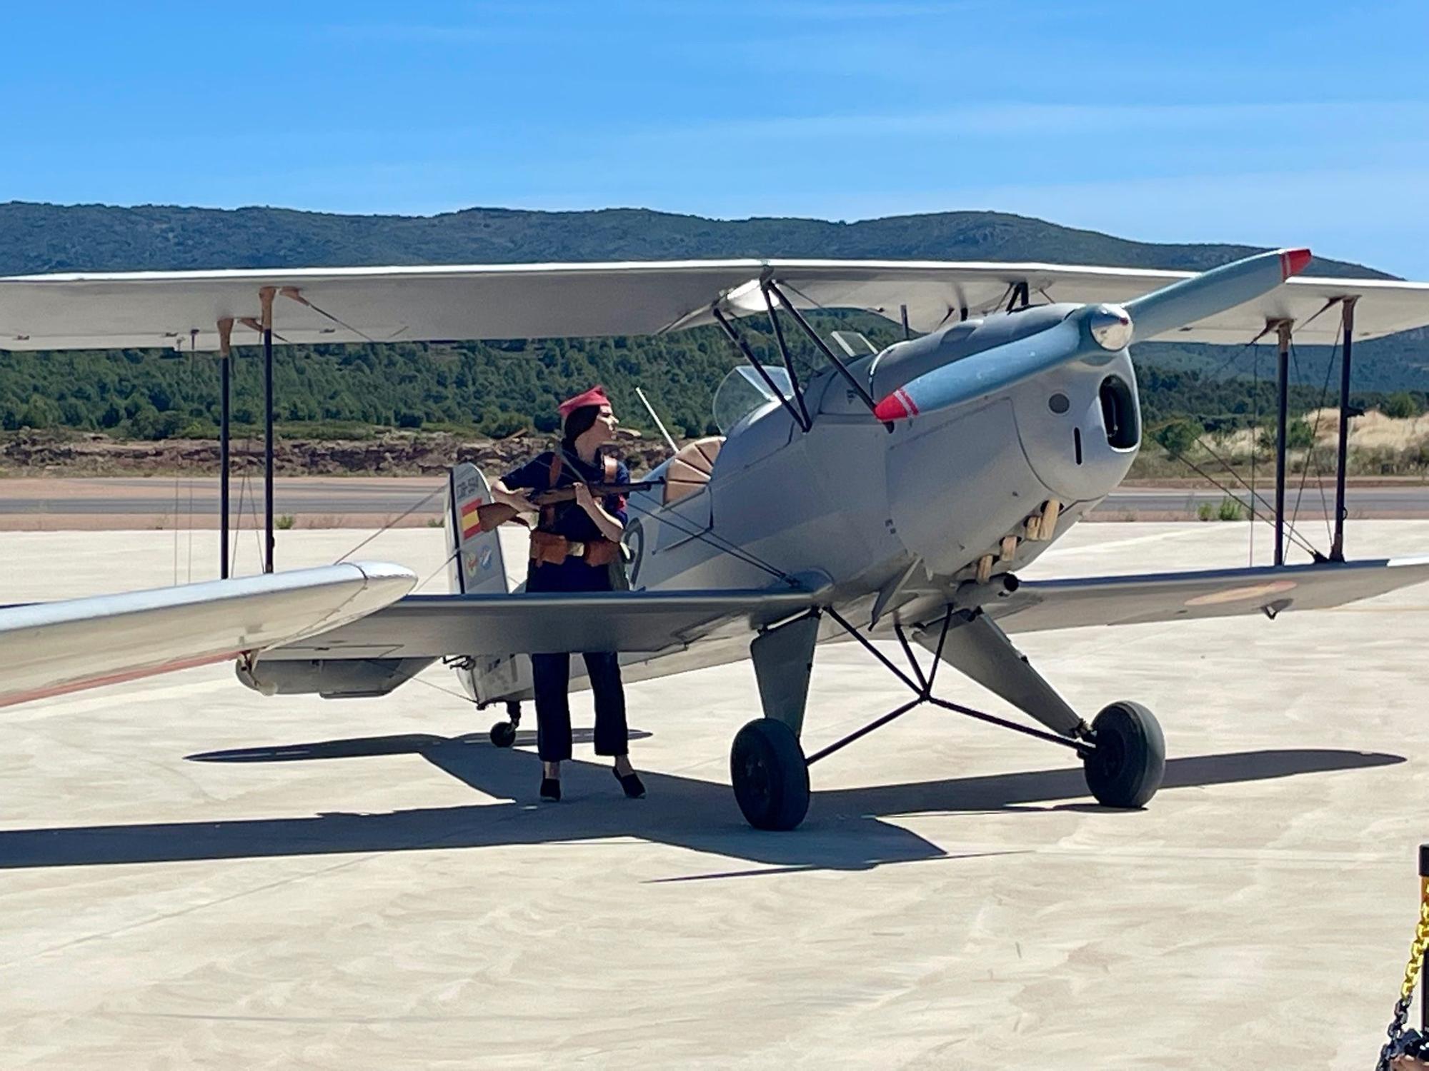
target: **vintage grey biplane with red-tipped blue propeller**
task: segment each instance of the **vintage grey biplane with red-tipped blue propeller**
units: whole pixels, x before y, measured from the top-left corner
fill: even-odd
[[[274,341],[717,324],[749,363],[714,396],[723,434],[673,450],[642,477],[654,486],[630,496],[630,591],[509,590],[497,534],[473,520],[486,480],[459,466],[446,510],[450,594],[409,594],[333,628],[254,644],[269,650],[240,657],[239,677],[264,694],[382,695],[443,660],[479,705],[506,705],[509,720],[492,738],[510,744],[519,704],[532,695],[526,654],[620,651],[627,680],[749,657],[763,710],[735,735],[730,775],[756,827],[797,825],[813,763],[925,703],[1063,745],[1085,764],[1096,800],[1139,807],[1165,768],[1155,717],[1122,700],[1085,718],[1009,633],[1273,618],[1429,580],[1429,557],[1345,561],[1342,527],[1352,343],[1429,323],[1429,284],[1296,277],[1309,260],[1306,250],[1278,250],[1202,274],[725,260],[14,277],[0,280],[0,348],[217,350],[226,416],[230,347],[262,341],[272,488]],[[847,333],[826,340],[809,324],[810,308],[872,310],[902,323],[906,340],[882,351]],[[772,326],[777,363],[747,344],[745,317]],[[787,344],[795,331],[822,354],[815,374],[799,376]],[[1142,418],[1127,347],[1157,337],[1279,344],[1276,564],[1019,583],[1017,573],[1130,467]],[[1335,540],[1328,555],[1296,565],[1283,553],[1292,337],[1343,346]],[[224,457],[226,443],[224,421]],[[267,497],[272,568],[272,490]],[[833,640],[863,644],[907,685],[909,700],[806,754],[815,648]],[[916,657],[915,645],[932,660]],[[942,663],[1039,727],[936,695]],[[0,664],[0,678],[13,671]]]

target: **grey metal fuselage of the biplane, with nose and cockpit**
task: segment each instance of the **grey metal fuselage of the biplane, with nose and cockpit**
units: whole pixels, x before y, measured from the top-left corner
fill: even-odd
[[[850,370],[877,396],[880,381],[1036,333],[1067,308],[963,321]],[[1126,350],[1073,361],[892,431],[832,368],[805,386],[805,400],[813,416],[807,431],[777,401],[732,427],[697,493],[670,506],[660,488],[630,496],[626,544],[634,590],[747,590],[789,580],[829,585],[846,618],[877,631],[899,617],[917,620],[987,593],[995,584],[977,584],[980,563],[993,578],[1026,567],[1122,481],[1140,446],[1136,374]],[[659,478],[663,467],[650,477]],[[1042,530],[1036,521],[1050,501],[1057,503],[1056,518]],[[846,638],[826,624],[820,640]],[[640,680],[667,673],[672,657],[682,668],[699,668],[747,651],[746,637],[627,654],[622,663],[629,680]],[[486,665],[486,687],[466,680],[479,698],[530,695],[524,658]]]

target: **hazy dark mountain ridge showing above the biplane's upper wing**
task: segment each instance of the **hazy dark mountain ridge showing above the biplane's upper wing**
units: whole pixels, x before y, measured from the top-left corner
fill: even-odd
[[[650,208],[470,207],[433,216],[249,206],[0,203],[0,274],[716,257],[993,260],[1205,270],[1260,251],[1146,243],[1030,216],[946,211],[835,221]],[[1308,274],[1393,278],[1315,260]]]

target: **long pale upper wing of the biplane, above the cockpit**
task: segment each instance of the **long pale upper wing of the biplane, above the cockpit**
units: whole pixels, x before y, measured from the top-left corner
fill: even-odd
[[[617,264],[494,264],[256,268],[13,276],[0,278],[0,348],[219,348],[257,340],[259,291],[273,287],[274,337],[286,343],[432,341],[654,334],[710,323],[716,304],[765,311],[760,278],[803,307],[865,308],[930,331],[962,310],[992,311],[1013,287],[1056,301],[1126,301],[1193,273],[1059,264],[896,260],[694,260]],[[1302,343],[1335,341],[1359,298],[1355,337],[1429,323],[1429,283],[1296,277],[1236,308],[1177,328],[1187,341],[1245,343],[1266,320],[1293,318]],[[1313,317],[1313,318],[1312,318]]]

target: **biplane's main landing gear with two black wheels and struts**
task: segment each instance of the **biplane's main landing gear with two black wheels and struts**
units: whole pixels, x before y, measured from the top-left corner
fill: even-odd
[[[783,651],[782,661],[769,655],[762,668],[760,653],[755,650],[755,670],[760,674],[760,694],[765,698],[766,714],[772,717],[756,718],[739,731],[729,761],[735,800],[745,818],[755,828],[792,830],[799,825],[809,810],[810,765],[925,703],[1070,748],[1082,758],[1086,785],[1103,807],[1143,807],[1160,788],[1166,774],[1166,741],[1160,725],[1146,707],[1122,700],[1103,708],[1087,725],[1012,647],[1006,634],[990,620],[982,618],[980,613],[959,611],[955,614],[949,610],[943,617],[940,631],[933,630],[920,637],[920,643],[933,651],[933,664],[926,673],[913,657],[913,648],[903,625],[895,624],[893,633],[907,655],[912,677],[879,651],[857,628],[839,617],[836,611],[826,610],[825,613],[903,681],[912,690],[913,698],[806,758],[799,744],[797,730],[803,721],[807,677],[792,680],[789,687],[783,690],[783,695],[776,678],[776,673],[782,673],[785,674],[783,680],[789,680],[793,675],[789,673],[790,668],[799,667],[799,658],[792,651],[795,634],[789,633],[789,643],[785,644],[789,650]],[[803,618],[803,621],[816,624],[817,618]],[[955,623],[959,635],[950,644],[949,630],[955,628]],[[790,628],[790,625],[780,628]],[[812,651],[816,628],[810,627],[806,631],[807,645]],[[933,643],[935,634],[936,644]],[[766,635],[770,641],[775,640],[775,634]],[[770,648],[775,645],[775,643],[769,644]],[[933,680],[945,658],[1055,731],[1022,725],[933,695]],[[807,670],[807,664],[802,668]],[[790,694],[793,700],[790,700]]]

